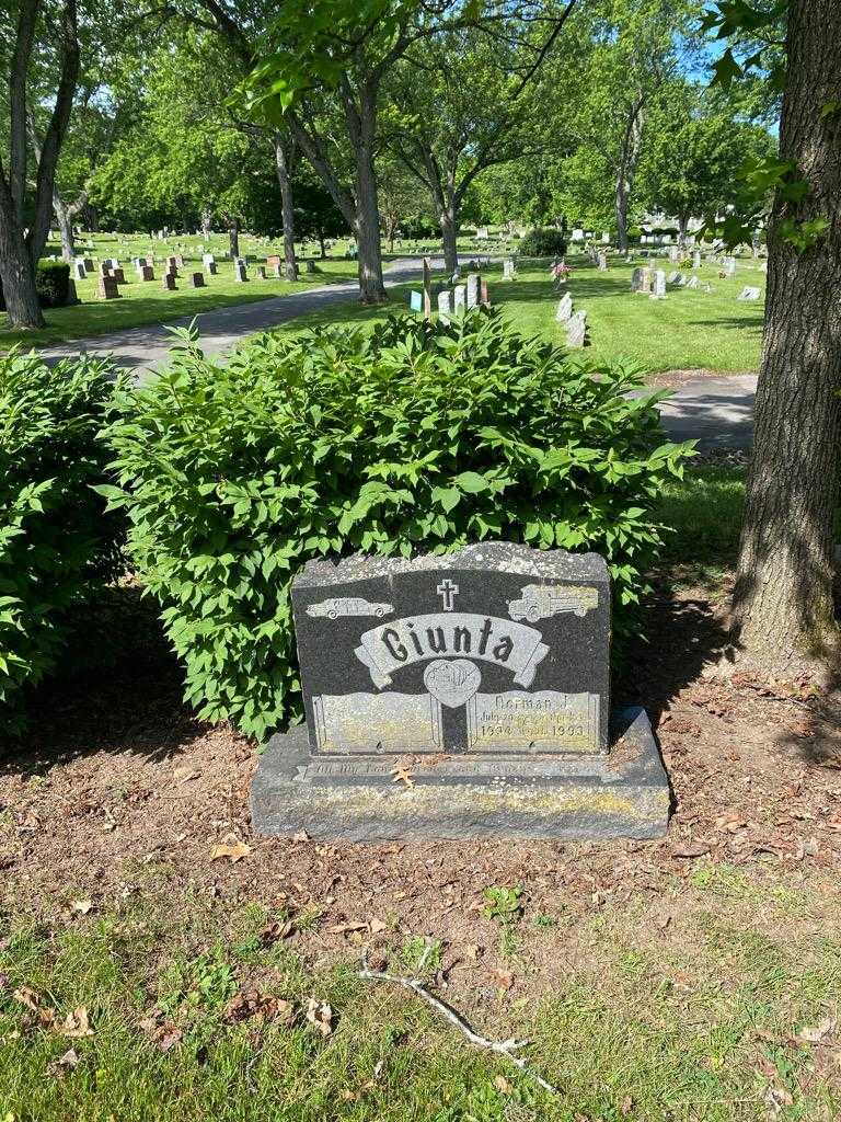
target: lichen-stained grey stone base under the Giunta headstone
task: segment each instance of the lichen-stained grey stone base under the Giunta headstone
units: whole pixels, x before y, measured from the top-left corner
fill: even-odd
[[[272,736],[251,784],[256,834],[344,842],[656,838],[669,787],[648,716],[611,716],[608,755],[312,755],[306,727]]]

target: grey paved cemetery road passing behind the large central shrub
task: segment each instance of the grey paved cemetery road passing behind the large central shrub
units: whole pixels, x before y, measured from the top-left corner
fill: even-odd
[[[443,268],[443,260],[434,259],[433,268]],[[394,261],[385,275],[386,285],[412,280],[420,274],[420,263],[413,258]],[[228,351],[243,335],[286,323],[298,315],[353,301],[358,293],[355,280],[324,285],[307,292],[290,293],[253,304],[218,307],[195,316],[202,337],[202,348],[207,355]],[[186,327],[191,316],[174,320],[174,327]],[[130,328],[110,335],[76,339],[67,343],[45,347],[41,353],[48,361],[73,357],[80,351],[104,357],[112,355],[140,377],[155,369],[167,357],[172,337],[164,324]],[[746,448],[752,434],[754,375],[730,377],[700,377],[684,383],[673,392],[662,406],[663,422],[672,440],[697,439],[701,449]]]

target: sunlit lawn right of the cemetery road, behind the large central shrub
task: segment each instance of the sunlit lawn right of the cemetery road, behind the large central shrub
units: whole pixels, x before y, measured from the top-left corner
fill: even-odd
[[[583,256],[567,257],[573,274],[566,288],[576,310],[584,309],[592,346],[583,355],[593,361],[634,359],[651,373],[665,370],[706,370],[739,373],[755,370],[759,362],[763,331],[763,303],[740,303],[737,296],[745,285],[764,287],[765,274],[757,265],[739,260],[737,275],[719,279],[719,269],[704,265],[695,270],[701,284],[712,292],[672,288],[664,301],[649,300],[630,291],[635,264],[611,258],[611,267],[600,273]],[[638,261],[636,264],[639,264]],[[668,263],[658,267],[672,272]],[[502,282],[501,268],[486,269],[490,296],[506,316],[526,333],[542,334],[564,343],[564,324],[555,322],[558,294],[548,279],[548,267],[526,261],[516,280]],[[417,285],[400,285],[389,291],[390,310],[407,309],[408,293]],[[380,320],[382,309],[348,304],[302,316],[278,330],[298,331],[323,323],[366,323]]]

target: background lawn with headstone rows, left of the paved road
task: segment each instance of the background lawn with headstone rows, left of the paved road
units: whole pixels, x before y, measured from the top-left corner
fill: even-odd
[[[122,239],[103,238],[94,236],[94,249],[84,248],[84,242],[80,242],[77,250],[80,256],[92,256],[100,260],[105,257],[115,257],[124,268],[128,284],[120,286],[120,300],[100,300],[98,294],[98,279],[95,273],[89,275],[84,280],[76,280],[76,292],[82,301],[74,307],[56,307],[45,311],[47,327],[40,331],[11,331],[8,327],[8,319],[4,313],[0,313],[0,349],[19,343],[22,347],[37,347],[39,344],[63,342],[70,339],[83,339],[89,335],[104,334],[110,331],[119,331],[124,328],[141,327],[147,323],[169,323],[179,316],[194,315],[197,312],[209,312],[214,307],[228,307],[231,304],[248,304],[259,300],[268,300],[271,296],[283,296],[286,293],[304,292],[317,285],[330,284],[339,280],[352,280],[357,276],[354,261],[344,260],[342,256],[329,257],[318,260],[317,272],[307,274],[302,268],[301,280],[289,284],[286,280],[268,278],[257,279],[253,266],[249,266],[251,279],[247,284],[240,284],[233,279],[233,265],[222,257],[227,248],[227,239],[214,236],[205,242],[207,252],[215,252],[218,258],[219,274],[214,277],[205,276],[204,288],[191,288],[187,286],[186,274],[202,270],[201,251],[197,250],[196,239],[186,239],[181,242],[150,242],[148,238],[137,236],[126,236]],[[48,247],[54,250],[56,247]],[[341,252],[344,247],[338,247]],[[265,261],[267,254],[278,250],[277,246],[266,245],[255,239],[240,238],[240,252],[253,255],[258,261]],[[283,249],[279,249],[283,252]],[[177,280],[176,292],[166,292],[160,287],[161,267],[160,261],[170,254],[182,252],[184,256],[184,268],[179,269],[182,279]],[[137,278],[137,272],[131,264],[132,257],[144,257],[154,254],[157,258],[155,265],[155,279],[141,282]],[[313,256],[313,247],[309,247],[309,256]]]

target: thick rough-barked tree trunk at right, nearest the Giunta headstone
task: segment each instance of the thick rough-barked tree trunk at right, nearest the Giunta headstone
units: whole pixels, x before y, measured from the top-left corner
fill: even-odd
[[[768,233],[765,337],[755,406],[739,569],[737,642],[784,665],[835,646],[833,515],[841,438],[841,7],[791,0],[779,153],[810,186],[802,203],[775,200]],[[828,222],[797,252],[780,223]]]

